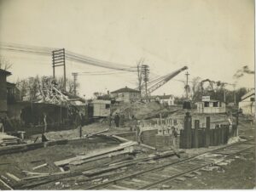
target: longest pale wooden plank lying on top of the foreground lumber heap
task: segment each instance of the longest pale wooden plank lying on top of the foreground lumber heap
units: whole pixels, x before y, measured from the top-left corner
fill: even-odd
[[[73,158],[69,158],[67,160],[62,160],[62,161],[55,161],[55,166],[64,166],[69,164],[71,161],[76,161],[76,160],[84,160],[84,159],[89,159],[98,155],[104,155],[104,154],[108,154],[111,153],[113,151],[117,151],[117,150],[124,150],[126,147],[130,147],[133,145],[136,145],[137,142],[126,142],[124,144],[119,144],[118,147],[113,147],[113,148],[108,148],[106,150],[99,150],[96,151],[94,153],[91,153],[89,155],[80,155],[80,156],[76,156]]]

